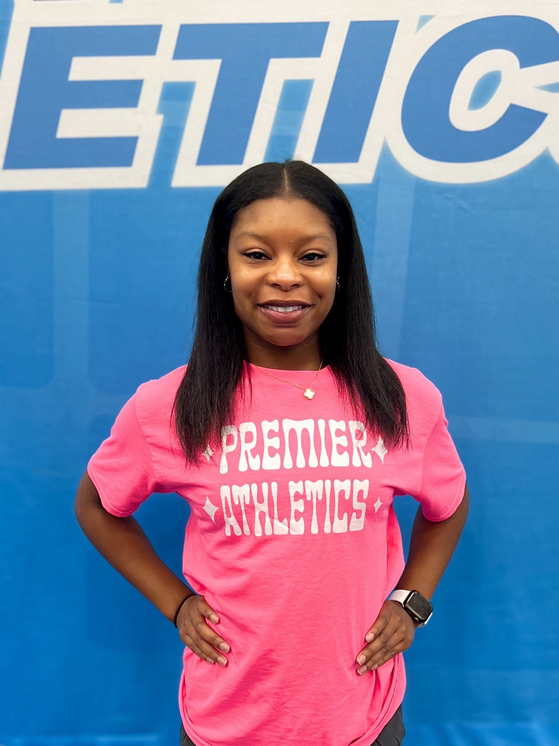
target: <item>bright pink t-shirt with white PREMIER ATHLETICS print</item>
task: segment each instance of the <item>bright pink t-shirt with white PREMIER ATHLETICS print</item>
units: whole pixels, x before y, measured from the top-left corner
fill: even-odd
[[[360,676],[356,656],[404,568],[394,495],[448,518],[466,474],[442,398],[387,360],[405,390],[411,448],[387,451],[338,396],[329,367],[303,391],[250,365],[217,452],[184,466],[169,419],[186,366],[142,383],[87,471],[104,507],[152,492],[189,502],[183,574],[218,612],[227,666],[183,653],[179,708],[197,746],[370,746],[405,690],[402,653]],[[309,386],[312,371],[274,375]]]

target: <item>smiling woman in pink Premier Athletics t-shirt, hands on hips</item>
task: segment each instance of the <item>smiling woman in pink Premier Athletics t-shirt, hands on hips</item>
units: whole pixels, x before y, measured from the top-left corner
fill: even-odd
[[[297,160],[239,175],[209,217],[188,366],[139,386],[76,498],[186,646],[182,745],[402,742],[402,651],[467,515],[447,424],[435,385],[376,349],[344,192]],[[132,517],[152,492],[189,501],[191,587]],[[394,495],[421,504],[406,565]]]

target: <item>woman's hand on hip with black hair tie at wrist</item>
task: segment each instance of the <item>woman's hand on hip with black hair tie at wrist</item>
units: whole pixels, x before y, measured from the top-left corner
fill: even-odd
[[[184,601],[177,616],[177,629],[180,639],[187,648],[209,663],[217,661],[220,665],[227,665],[227,658],[223,653],[218,653],[215,648],[220,648],[225,653],[230,651],[227,642],[206,624],[206,618],[218,622],[219,617],[203,595],[192,594]],[[223,647],[222,647],[223,646]]]

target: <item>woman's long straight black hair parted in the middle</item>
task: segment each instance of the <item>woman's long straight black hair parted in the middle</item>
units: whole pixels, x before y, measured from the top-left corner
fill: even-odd
[[[250,383],[241,322],[233,295],[224,288],[227,250],[239,210],[271,197],[306,199],[328,217],[338,242],[339,290],[318,330],[323,366],[330,366],[339,394],[365,427],[379,434],[389,450],[402,442],[408,448],[405,393],[376,348],[373,301],[350,202],[320,169],[288,159],[241,173],[218,195],[210,213],[198,268],[192,353],[171,414],[186,464],[197,464],[206,445],[221,443],[221,427],[233,422],[236,397],[245,394],[243,371]]]

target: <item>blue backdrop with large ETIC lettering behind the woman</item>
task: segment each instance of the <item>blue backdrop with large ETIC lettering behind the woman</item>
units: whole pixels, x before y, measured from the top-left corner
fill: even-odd
[[[75,491],[188,360],[218,192],[285,157],[350,198],[382,354],[441,390],[467,471],[406,743],[559,744],[555,0],[183,5],[0,4],[1,744],[177,744],[183,644]],[[185,501],[136,518],[180,575]]]

